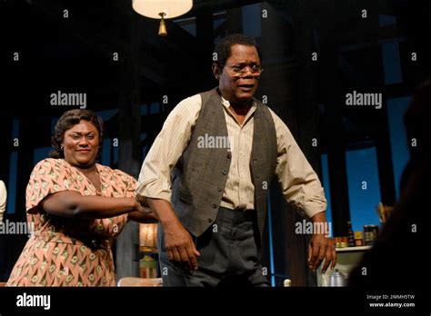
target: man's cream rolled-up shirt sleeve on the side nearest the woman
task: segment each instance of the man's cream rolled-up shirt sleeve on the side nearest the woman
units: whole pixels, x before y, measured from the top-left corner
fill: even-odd
[[[196,94],[167,116],[142,164],[136,194],[171,201],[171,172],[190,141],[200,109],[201,96]]]

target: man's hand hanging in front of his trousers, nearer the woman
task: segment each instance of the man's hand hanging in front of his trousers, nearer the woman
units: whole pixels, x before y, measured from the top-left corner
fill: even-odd
[[[196,256],[200,253],[196,250],[192,236],[184,226],[177,222],[171,227],[165,227],[165,247],[169,260],[182,262],[185,267],[192,271],[197,270]]]

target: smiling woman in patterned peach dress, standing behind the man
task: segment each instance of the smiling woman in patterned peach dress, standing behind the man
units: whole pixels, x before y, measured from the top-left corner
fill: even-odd
[[[33,233],[7,286],[115,286],[113,240],[127,220],[155,215],[143,197],[135,199],[133,177],[95,163],[102,136],[102,119],[92,111],[68,111],[56,123],[55,150],[27,185]]]

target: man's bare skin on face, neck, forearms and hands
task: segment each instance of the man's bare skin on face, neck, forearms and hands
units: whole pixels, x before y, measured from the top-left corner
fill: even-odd
[[[252,73],[252,65],[260,65],[260,58],[255,46],[234,44],[231,55],[224,67],[213,65],[213,74],[218,80],[220,94],[229,101],[229,110],[238,123],[243,124],[246,114],[252,106],[256,93],[259,75]],[[246,73],[236,74],[233,66],[246,66]],[[183,262],[189,270],[197,270],[196,257],[200,253],[195,248],[190,235],[175,215],[170,202],[162,199],[147,199],[148,204],[157,214],[165,232],[165,248],[169,260]],[[319,212],[311,218],[312,222],[326,222],[325,212]],[[331,264],[336,265],[336,250],[333,242],[324,234],[314,234],[308,246],[308,266],[315,271],[325,261],[322,272]]]

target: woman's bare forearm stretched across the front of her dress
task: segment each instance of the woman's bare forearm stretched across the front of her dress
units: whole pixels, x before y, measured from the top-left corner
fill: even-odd
[[[115,198],[81,195],[76,191],[62,191],[48,195],[41,207],[45,212],[65,217],[109,218],[126,212],[148,212],[135,198]]]

